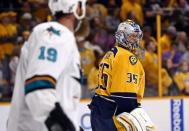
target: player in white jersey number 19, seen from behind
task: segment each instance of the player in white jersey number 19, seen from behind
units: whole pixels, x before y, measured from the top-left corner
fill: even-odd
[[[7,131],[79,131],[80,55],[74,32],[86,0],[48,0],[55,21],[22,47]],[[1,129],[0,129],[1,130]]]

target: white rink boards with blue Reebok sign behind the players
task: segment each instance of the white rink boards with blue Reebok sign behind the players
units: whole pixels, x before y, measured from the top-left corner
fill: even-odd
[[[90,100],[82,100],[80,104],[80,125],[85,131],[91,131],[90,111],[87,104]],[[189,131],[189,98],[148,98],[143,107],[156,124],[157,131]],[[9,103],[0,103],[0,131],[6,131]]]

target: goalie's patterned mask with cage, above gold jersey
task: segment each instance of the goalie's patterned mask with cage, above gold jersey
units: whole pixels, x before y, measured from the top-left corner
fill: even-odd
[[[116,42],[130,51],[139,48],[142,36],[143,33],[140,26],[132,20],[126,20],[120,23],[115,33]]]

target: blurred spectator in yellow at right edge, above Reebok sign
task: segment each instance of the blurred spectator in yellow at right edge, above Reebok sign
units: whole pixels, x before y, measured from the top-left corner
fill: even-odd
[[[179,88],[180,94],[189,95],[189,63],[182,61],[179,71],[174,75],[174,80]]]

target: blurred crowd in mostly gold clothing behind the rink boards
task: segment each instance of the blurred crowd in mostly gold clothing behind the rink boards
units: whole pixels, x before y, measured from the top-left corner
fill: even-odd
[[[187,0],[88,0],[87,17],[76,40],[83,68],[83,98],[97,87],[98,63],[115,45],[120,22],[131,19],[143,30],[141,59],[145,96],[158,96],[156,15],[161,15],[162,89],[164,96],[189,95],[189,2]],[[0,100],[12,96],[23,43],[32,28],[53,18],[46,0],[0,1]],[[124,60],[124,58],[123,58]]]

